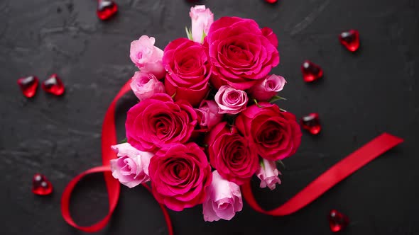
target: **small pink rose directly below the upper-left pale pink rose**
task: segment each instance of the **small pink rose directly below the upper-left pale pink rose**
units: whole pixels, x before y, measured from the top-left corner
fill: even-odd
[[[140,101],[150,98],[155,93],[165,93],[164,84],[153,74],[136,71],[131,79],[131,89]]]

